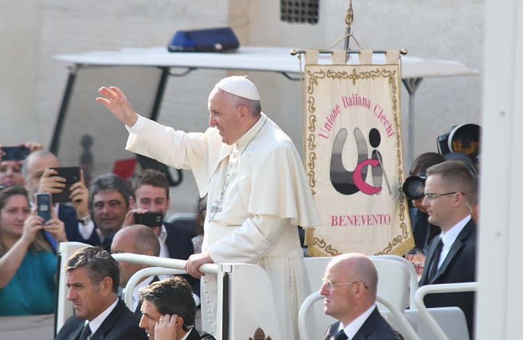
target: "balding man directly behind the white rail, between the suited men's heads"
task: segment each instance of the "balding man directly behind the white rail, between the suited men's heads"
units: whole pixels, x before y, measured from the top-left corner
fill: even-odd
[[[139,255],[148,256],[159,256],[160,255],[160,242],[148,226],[140,224],[134,226],[126,226],[120,229],[118,233],[114,235],[113,242],[111,244],[111,253],[132,253]],[[138,303],[138,289],[149,285],[150,283],[159,280],[158,276],[149,276],[143,278],[134,287],[132,292],[126,292],[125,286],[129,282],[130,278],[141,269],[148,268],[148,265],[140,265],[130,262],[118,262],[120,267],[120,287],[123,288],[122,298],[125,295],[131,294],[133,299],[132,309],[134,314],[141,318],[140,305]]]

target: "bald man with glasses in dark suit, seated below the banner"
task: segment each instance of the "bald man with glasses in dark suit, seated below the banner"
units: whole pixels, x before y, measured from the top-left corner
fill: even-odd
[[[325,314],[339,320],[324,340],[398,340],[402,335],[383,319],[378,306],[378,271],[367,256],[348,253],[331,260],[320,290]]]

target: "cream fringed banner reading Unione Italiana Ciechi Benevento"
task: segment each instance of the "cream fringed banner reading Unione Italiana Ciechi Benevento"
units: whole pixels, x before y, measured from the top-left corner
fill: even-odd
[[[401,190],[400,55],[373,64],[362,51],[346,65],[344,51],[333,64],[314,52],[305,57],[305,170],[322,224],[305,244],[311,256],[402,256],[414,240]]]

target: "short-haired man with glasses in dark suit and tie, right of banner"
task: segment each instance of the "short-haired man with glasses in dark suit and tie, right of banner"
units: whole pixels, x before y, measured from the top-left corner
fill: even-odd
[[[420,286],[476,280],[476,224],[469,202],[475,202],[475,178],[462,161],[445,161],[427,170],[425,199],[429,222],[441,228],[429,245]],[[427,307],[457,306],[467,319],[470,338],[474,330],[472,292],[432,294]]]

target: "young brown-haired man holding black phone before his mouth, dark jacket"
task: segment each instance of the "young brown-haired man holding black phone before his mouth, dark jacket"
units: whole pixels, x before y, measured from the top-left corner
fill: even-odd
[[[134,213],[161,213],[161,219],[166,217],[170,205],[169,182],[166,175],[158,170],[147,169],[134,177],[132,181],[134,196],[130,198],[132,210],[127,213],[124,225],[136,224]],[[189,231],[176,223],[163,222],[161,226],[150,227],[160,242],[161,258],[176,258],[187,260],[194,253],[193,242]],[[168,276],[161,276],[167,278]],[[200,280],[190,275],[184,275],[193,287],[196,305],[200,305]]]

